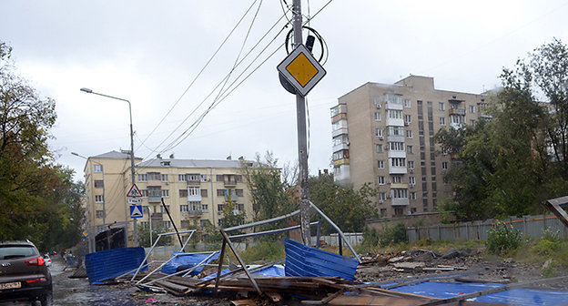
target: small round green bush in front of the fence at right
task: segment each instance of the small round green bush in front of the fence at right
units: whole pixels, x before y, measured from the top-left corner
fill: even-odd
[[[489,237],[485,246],[490,253],[495,255],[503,256],[512,250],[517,250],[522,241],[522,233],[515,230],[511,224],[498,223],[487,233]]]

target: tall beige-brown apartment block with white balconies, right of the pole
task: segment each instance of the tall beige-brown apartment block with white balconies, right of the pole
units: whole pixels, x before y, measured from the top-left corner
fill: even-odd
[[[451,197],[443,179],[451,160],[434,135],[489,117],[486,107],[484,94],[439,90],[432,77],[366,83],[331,107],[334,178],[355,189],[378,186],[382,218],[435,211]]]

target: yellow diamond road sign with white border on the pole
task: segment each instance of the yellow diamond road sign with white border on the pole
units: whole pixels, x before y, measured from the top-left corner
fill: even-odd
[[[304,45],[299,45],[277,66],[279,73],[302,95],[308,95],[326,75],[323,66]]]

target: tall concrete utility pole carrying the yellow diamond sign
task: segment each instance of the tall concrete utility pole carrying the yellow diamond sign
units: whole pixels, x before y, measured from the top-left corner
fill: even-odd
[[[301,0],[292,5],[292,26],[294,28],[294,48],[302,42]],[[309,193],[308,193],[308,141],[306,138],[306,99],[296,94],[296,113],[298,116],[298,160],[299,160],[299,216],[302,241],[311,246],[309,232]]]

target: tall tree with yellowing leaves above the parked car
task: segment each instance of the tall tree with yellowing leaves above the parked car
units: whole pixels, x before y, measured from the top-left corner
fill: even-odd
[[[0,240],[69,246],[80,239],[80,187],[48,149],[56,104],[15,73],[11,53],[0,42]]]

